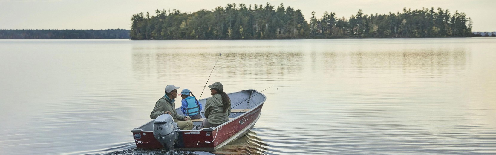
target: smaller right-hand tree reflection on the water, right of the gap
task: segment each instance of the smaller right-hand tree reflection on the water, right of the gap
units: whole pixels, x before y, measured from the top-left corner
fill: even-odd
[[[330,68],[348,64],[348,67],[359,69],[384,67],[397,69],[463,69],[467,63],[467,52],[463,49],[405,52],[323,52],[320,56],[324,66]],[[317,59],[314,60],[317,61]]]

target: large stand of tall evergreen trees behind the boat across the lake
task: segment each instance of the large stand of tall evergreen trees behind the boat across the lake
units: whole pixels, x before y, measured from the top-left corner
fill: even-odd
[[[413,38],[470,37],[472,20],[448,9],[406,9],[389,14],[357,14],[349,18],[312,12],[310,23],[300,9],[265,5],[227,4],[193,13],[156,10],[134,14],[132,40],[167,39],[296,39],[296,38]]]

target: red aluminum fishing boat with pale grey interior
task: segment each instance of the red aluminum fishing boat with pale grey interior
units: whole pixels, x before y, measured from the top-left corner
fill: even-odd
[[[228,122],[211,128],[178,130],[174,126],[176,123],[172,123],[173,121],[171,121],[172,117],[168,114],[163,114],[157,117],[157,119],[153,119],[131,130],[136,147],[214,151],[244,136],[260,117],[260,110],[266,97],[252,89],[231,93],[228,96],[231,99],[231,115]],[[204,106],[206,99],[201,99],[199,102]],[[183,115],[181,107],[177,108],[176,111]],[[201,113],[203,115],[204,108],[202,108]],[[199,126],[203,119],[205,118],[194,119],[192,121],[193,124]],[[160,126],[160,129],[162,127],[167,128],[170,131],[167,134],[159,135],[159,131],[156,130],[156,136],[154,136],[154,126],[155,128],[159,128]]]

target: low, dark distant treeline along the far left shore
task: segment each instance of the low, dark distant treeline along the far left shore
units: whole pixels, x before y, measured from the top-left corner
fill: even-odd
[[[0,30],[0,39],[128,39],[129,30]]]

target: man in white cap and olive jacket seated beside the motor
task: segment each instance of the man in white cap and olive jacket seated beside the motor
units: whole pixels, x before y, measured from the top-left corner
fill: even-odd
[[[150,114],[151,119],[155,119],[162,114],[170,114],[174,121],[178,123],[178,127],[181,130],[191,130],[193,128],[193,122],[190,121],[191,118],[188,116],[180,115],[176,112],[176,104],[174,103],[178,97],[179,87],[174,85],[168,85],[165,87],[165,95],[160,98],[157,103],[155,103],[155,107]]]

